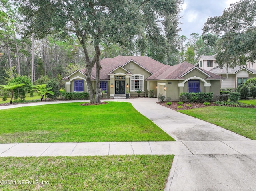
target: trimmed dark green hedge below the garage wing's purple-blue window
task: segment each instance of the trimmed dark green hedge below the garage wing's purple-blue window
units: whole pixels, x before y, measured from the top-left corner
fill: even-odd
[[[212,100],[213,97],[213,93],[202,93],[202,92],[198,92],[198,93],[180,93],[180,96],[185,95],[187,96],[189,102],[209,102]]]

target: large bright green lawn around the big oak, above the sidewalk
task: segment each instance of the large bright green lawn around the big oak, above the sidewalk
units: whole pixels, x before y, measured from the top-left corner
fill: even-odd
[[[0,110],[0,143],[174,141],[128,102]]]

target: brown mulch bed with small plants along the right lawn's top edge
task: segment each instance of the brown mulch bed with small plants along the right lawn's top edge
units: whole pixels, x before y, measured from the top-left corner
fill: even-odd
[[[162,106],[165,106],[167,108],[170,108],[172,110],[188,110],[188,109],[195,109],[195,108],[202,108],[202,107],[209,107],[209,106],[221,106],[218,104],[214,104],[214,102],[211,102],[210,105],[204,105],[204,103],[190,103],[190,102],[184,102],[182,104],[182,108],[178,108],[179,104],[177,102],[172,102],[172,105],[165,105],[166,102],[156,102],[157,104],[160,104]],[[187,104],[192,104],[192,106],[186,106]],[[246,107],[246,108],[256,108],[256,106],[233,106],[233,105],[223,105],[223,106],[228,106],[228,107]]]

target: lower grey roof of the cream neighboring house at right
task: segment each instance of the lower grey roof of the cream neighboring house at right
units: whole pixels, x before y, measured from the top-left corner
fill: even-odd
[[[252,73],[252,74],[256,74],[256,70],[248,68],[248,67],[243,67],[243,66],[236,66],[234,68],[230,68],[228,67],[228,69],[226,67],[223,67],[222,69],[218,66],[214,67],[213,69],[210,70],[210,72],[214,73],[214,74],[235,74],[238,73],[240,70],[245,69],[248,72]]]

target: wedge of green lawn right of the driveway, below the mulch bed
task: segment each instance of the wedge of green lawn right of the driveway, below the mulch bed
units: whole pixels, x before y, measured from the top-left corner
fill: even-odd
[[[256,140],[254,108],[210,106],[179,112],[216,124],[232,132]]]

